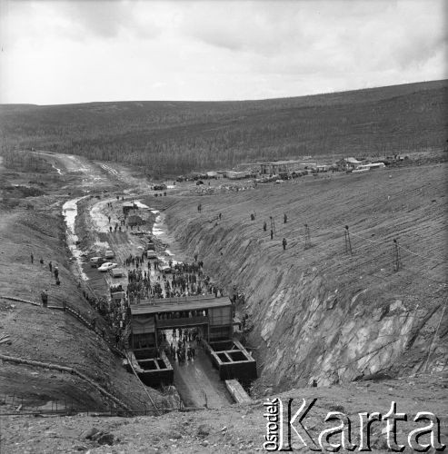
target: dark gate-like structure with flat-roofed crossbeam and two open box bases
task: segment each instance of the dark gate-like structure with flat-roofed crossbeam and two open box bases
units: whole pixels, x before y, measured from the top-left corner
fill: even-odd
[[[221,380],[250,383],[257,376],[256,362],[244,346],[233,339],[233,305],[228,298],[198,295],[161,298],[131,306],[130,346],[144,382],[170,382],[171,370],[162,355],[163,331],[199,327],[202,345]],[[143,379],[142,379],[143,380]],[[158,381],[157,381],[158,380]]]

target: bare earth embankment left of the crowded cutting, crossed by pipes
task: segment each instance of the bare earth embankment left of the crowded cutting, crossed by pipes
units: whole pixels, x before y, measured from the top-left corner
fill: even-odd
[[[78,173],[75,170],[74,174],[67,174],[64,169],[64,183],[75,187]],[[58,189],[61,181],[56,171],[32,174],[3,169],[2,177],[13,186],[26,184],[34,188],[37,183],[31,182],[38,181],[43,193],[20,199],[21,204],[15,209],[7,208],[5,200],[0,204],[0,353],[75,368],[131,409],[144,409],[144,402],[151,408],[139,381],[124,370],[122,358],[98,334],[102,328],[107,332],[105,321],[86,301],[72,272],[61,210],[63,202],[74,193],[69,196],[70,189]],[[33,209],[20,208],[24,204]],[[41,258],[43,264],[39,262]],[[50,261],[58,265],[59,286],[49,270]],[[2,298],[40,302],[40,293],[45,289],[49,305],[61,307],[65,301],[87,320],[95,318],[96,332],[65,311]],[[164,402],[156,391],[153,397]],[[12,409],[13,405],[15,410],[20,403],[23,411],[53,409],[56,402],[59,409],[75,410],[104,410],[111,404],[95,387],[75,375],[6,361],[0,368],[0,402],[6,403],[7,408],[3,406],[2,410],[9,406]]]

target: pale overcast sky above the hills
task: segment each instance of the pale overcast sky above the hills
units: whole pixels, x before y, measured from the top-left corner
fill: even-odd
[[[447,78],[444,0],[0,0],[0,103],[260,99]]]

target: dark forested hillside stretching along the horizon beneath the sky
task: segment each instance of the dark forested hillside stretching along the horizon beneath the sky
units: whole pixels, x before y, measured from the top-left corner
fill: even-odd
[[[445,80],[264,101],[4,104],[2,151],[82,154],[157,175],[304,155],[440,150],[447,90]]]

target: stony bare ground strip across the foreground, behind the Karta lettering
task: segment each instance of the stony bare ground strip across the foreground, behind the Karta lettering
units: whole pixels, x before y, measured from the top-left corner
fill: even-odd
[[[419,427],[418,423],[413,422],[418,411],[433,411],[441,419],[441,441],[448,442],[447,386],[446,376],[436,374],[400,380],[361,381],[329,388],[296,389],[279,394],[278,397],[284,402],[285,418],[289,398],[294,399],[294,413],[303,399],[307,403],[317,399],[314,408],[304,419],[304,426],[316,443],[322,430],[340,424],[338,421],[325,423],[327,413],[342,412],[352,421],[352,441],[358,445],[358,413],[379,411],[384,416],[390,410],[392,401],[395,401],[397,412],[408,415],[407,422],[397,422],[397,441],[406,446],[404,452],[411,452],[407,436],[412,429]],[[11,454],[76,451],[92,454],[264,452],[267,423],[263,416],[264,400],[254,400],[248,405],[234,405],[221,410],[169,413],[159,418],[98,418],[84,415],[45,419],[2,418],[1,446]],[[85,431],[92,428],[111,433],[114,444],[100,446],[95,441],[85,439]],[[385,434],[382,433],[384,428],[385,422],[373,423],[372,452],[391,452]],[[428,440],[429,437],[426,436],[421,442]],[[338,437],[332,439],[332,442],[337,441],[340,441]],[[304,448],[294,432],[292,447],[294,452],[311,452]]]

